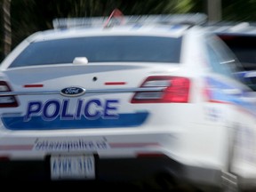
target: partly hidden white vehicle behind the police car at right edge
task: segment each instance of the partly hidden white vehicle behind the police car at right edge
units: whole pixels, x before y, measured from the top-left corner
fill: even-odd
[[[241,62],[237,75],[244,78],[252,90],[256,91],[256,24],[255,22],[217,22],[208,23],[210,31],[220,36],[229,49]]]

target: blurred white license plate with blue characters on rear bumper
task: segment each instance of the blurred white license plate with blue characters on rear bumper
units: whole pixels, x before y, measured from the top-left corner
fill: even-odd
[[[94,156],[51,156],[52,180],[95,178]]]

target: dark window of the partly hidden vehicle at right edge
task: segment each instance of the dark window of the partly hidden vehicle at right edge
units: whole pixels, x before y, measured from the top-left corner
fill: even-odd
[[[256,69],[256,36],[220,35],[245,70]]]

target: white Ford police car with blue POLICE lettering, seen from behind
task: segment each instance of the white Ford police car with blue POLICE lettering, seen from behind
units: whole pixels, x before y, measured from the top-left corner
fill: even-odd
[[[78,21],[1,64],[2,180],[255,184],[256,102],[217,36],[168,15]]]

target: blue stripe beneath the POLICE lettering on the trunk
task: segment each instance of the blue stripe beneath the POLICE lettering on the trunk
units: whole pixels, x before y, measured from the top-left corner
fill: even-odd
[[[52,121],[45,121],[42,116],[32,116],[28,122],[24,122],[24,116],[3,116],[2,121],[9,130],[67,130],[90,128],[117,128],[134,127],[143,124],[148,117],[148,112],[131,114],[119,114],[116,119],[98,118],[88,120],[84,116],[79,120],[63,120],[60,116]]]

